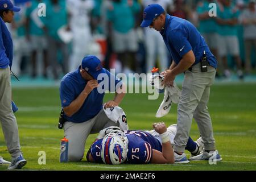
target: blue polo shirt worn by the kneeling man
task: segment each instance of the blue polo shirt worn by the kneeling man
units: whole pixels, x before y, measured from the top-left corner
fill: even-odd
[[[119,80],[119,78],[115,77],[112,73],[110,73],[106,69],[105,71],[106,71],[106,74],[108,75],[108,80],[104,81],[104,79],[102,79],[98,82],[99,84],[102,81],[107,82],[108,85],[106,85],[105,88],[104,86],[102,86],[103,90],[109,90],[110,92],[113,92],[114,91],[113,85],[115,88],[115,86],[121,80]],[[80,95],[82,90],[84,90],[86,84],[87,84],[87,81],[84,80],[84,78],[82,78],[81,76],[80,67],[77,68],[76,71],[70,72],[67,75],[65,75],[62,78],[60,83],[61,106],[62,107],[69,106],[69,104],[71,104],[71,102]],[[104,94],[105,93],[99,93],[97,88],[94,88],[92,92],[90,92],[90,94],[87,96],[86,100],[84,101],[84,104],[81,106],[79,111],[77,111],[71,117],[68,117],[67,115],[64,114],[64,118],[74,123],[81,123],[81,122],[88,121],[89,119],[92,119],[102,109]]]

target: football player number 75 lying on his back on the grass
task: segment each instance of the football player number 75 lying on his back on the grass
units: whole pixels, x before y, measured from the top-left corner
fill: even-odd
[[[176,125],[166,128],[163,122],[154,123],[154,130],[122,131],[119,127],[108,127],[101,130],[96,141],[90,146],[86,159],[88,162],[105,164],[143,164],[143,163],[175,163],[172,143],[176,134]],[[192,156],[203,151],[201,137],[194,142],[190,137],[186,150]],[[183,160],[179,163],[188,163]]]

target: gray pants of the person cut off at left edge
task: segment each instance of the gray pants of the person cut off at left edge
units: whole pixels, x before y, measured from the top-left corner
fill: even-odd
[[[7,149],[13,158],[21,155],[19,133],[15,115],[11,109],[10,67],[0,68],[0,122]]]

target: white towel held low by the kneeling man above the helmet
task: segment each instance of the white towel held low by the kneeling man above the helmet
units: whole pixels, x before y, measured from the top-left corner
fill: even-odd
[[[115,107],[104,109],[104,106],[103,106],[103,110],[106,113],[106,116],[109,119],[111,119],[111,121],[115,123],[119,122],[119,127],[122,130],[129,130],[129,127],[127,125],[126,114],[121,107],[115,106]]]

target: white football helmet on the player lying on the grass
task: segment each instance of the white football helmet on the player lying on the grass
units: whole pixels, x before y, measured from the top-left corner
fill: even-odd
[[[107,134],[101,145],[101,159],[105,164],[125,162],[128,151],[128,138],[122,131]]]

